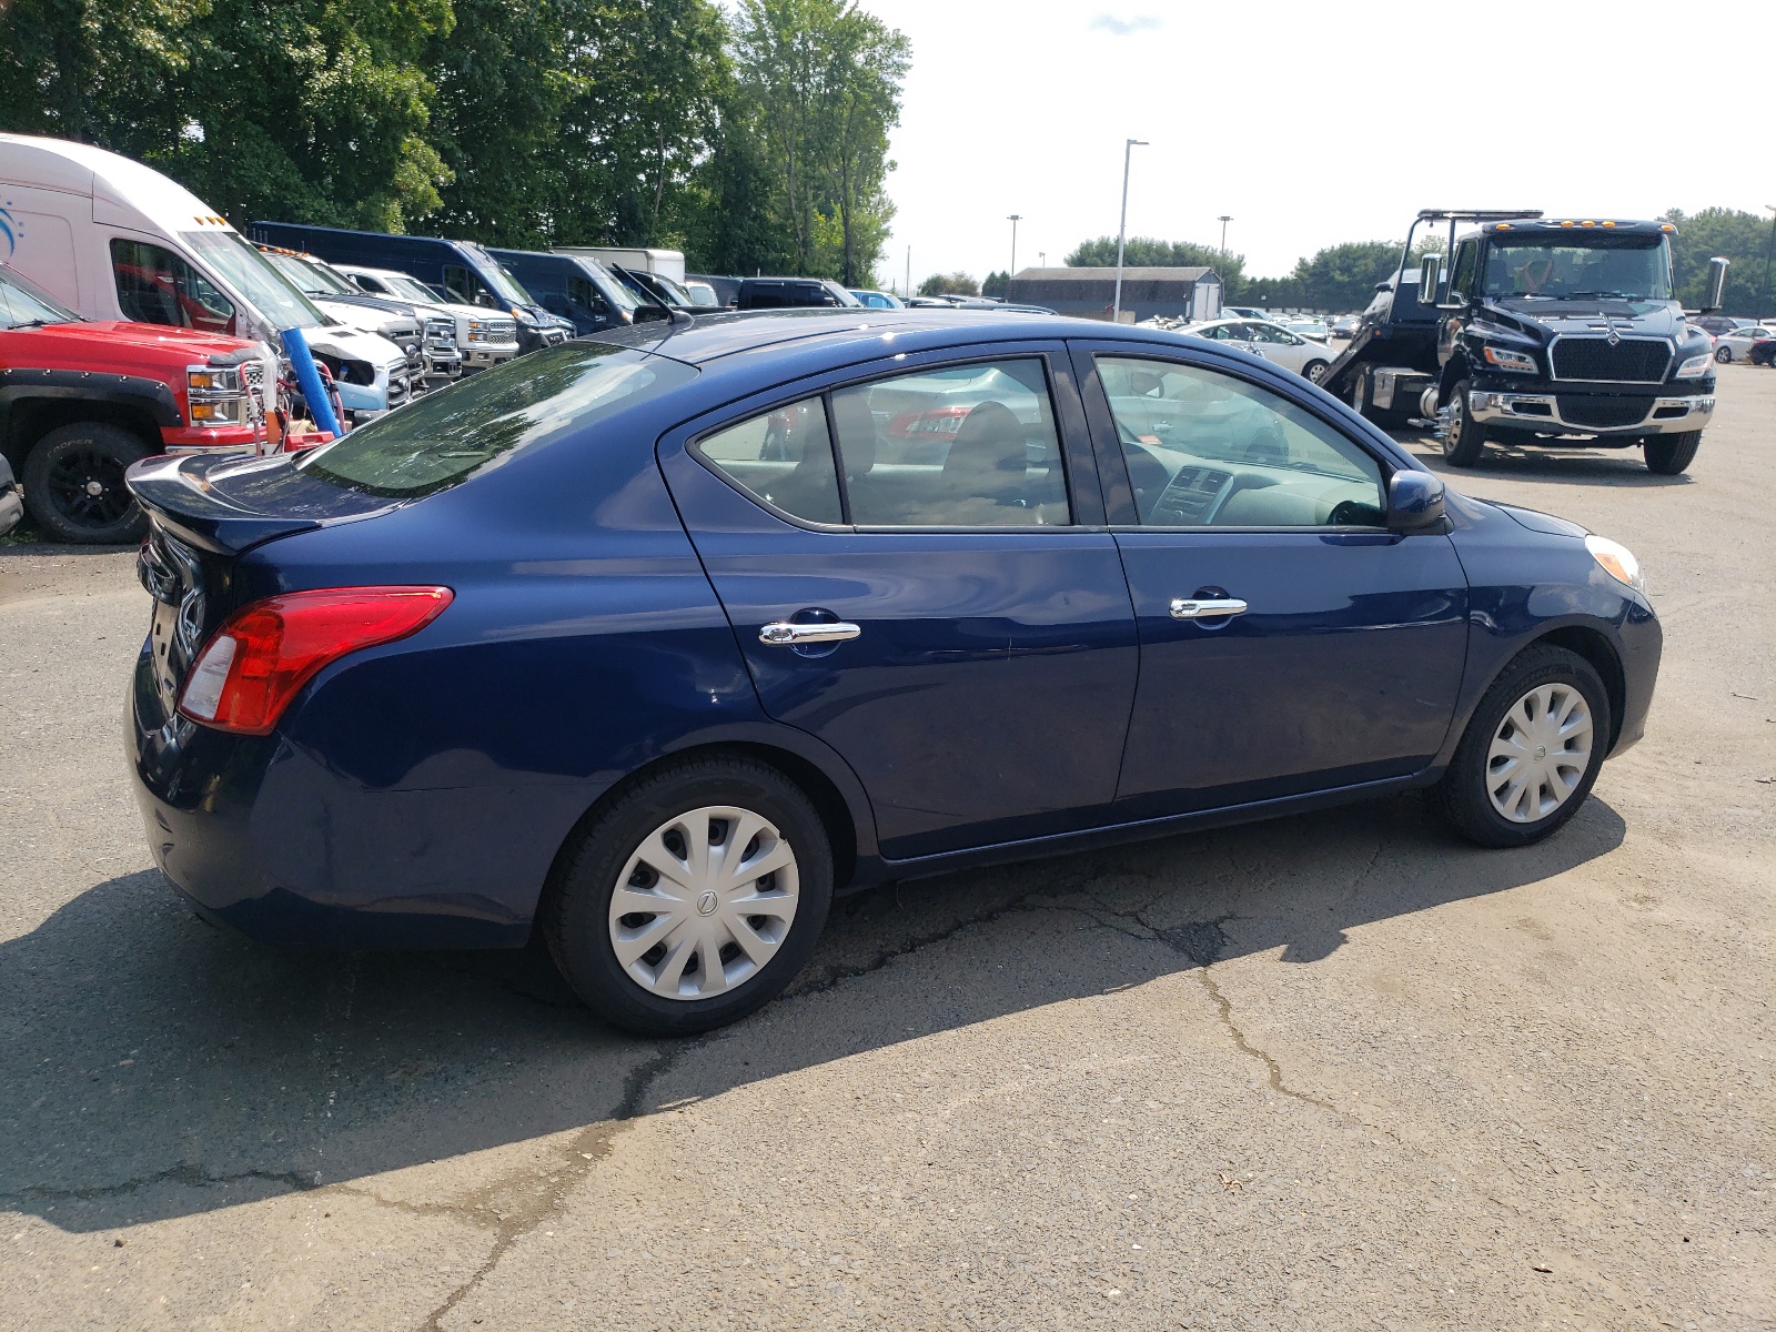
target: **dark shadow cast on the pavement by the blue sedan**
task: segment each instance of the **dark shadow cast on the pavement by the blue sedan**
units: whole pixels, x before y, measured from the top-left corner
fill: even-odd
[[[648,1114],[668,1064],[675,1098],[709,1098],[1229,957],[1312,964],[1623,831],[1591,797],[1540,845],[1478,851],[1403,796],[886,886],[835,906],[785,998],[696,1043],[611,1032],[536,948],[274,950],[130,874],[0,945],[0,1208],[75,1233],[208,1213]],[[1089,931],[1119,936],[1069,947]]]

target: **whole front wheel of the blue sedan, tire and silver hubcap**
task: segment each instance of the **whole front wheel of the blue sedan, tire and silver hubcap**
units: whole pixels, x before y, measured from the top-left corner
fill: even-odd
[[[1474,709],[1433,797],[1469,842],[1540,842],[1591,792],[1609,735],[1609,694],[1591,662],[1527,648]]]

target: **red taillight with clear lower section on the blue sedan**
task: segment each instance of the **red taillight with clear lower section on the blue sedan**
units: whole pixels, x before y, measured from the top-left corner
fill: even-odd
[[[449,588],[325,588],[236,611],[204,645],[179,712],[217,730],[268,735],[314,673],[348,652],[417,634]]]

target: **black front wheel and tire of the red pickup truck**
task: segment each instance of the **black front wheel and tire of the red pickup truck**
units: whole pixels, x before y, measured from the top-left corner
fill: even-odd
[[[137,435],[103,421],[52,430],[25,455],[25,508],[37,529],[59,542],[140,542],[147,515],[123,474],[149,453]]]

